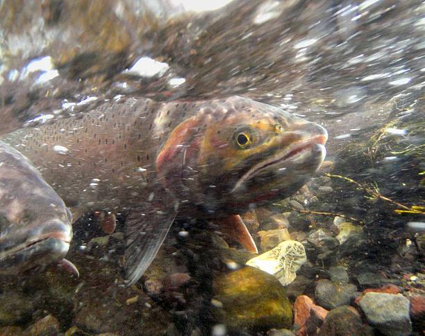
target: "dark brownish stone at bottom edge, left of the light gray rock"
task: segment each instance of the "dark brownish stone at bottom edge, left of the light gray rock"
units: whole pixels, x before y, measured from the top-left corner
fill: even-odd
[[[370,326],[363,324],[353,307],[341,306],[328,312],[318,336],[373,336]]]

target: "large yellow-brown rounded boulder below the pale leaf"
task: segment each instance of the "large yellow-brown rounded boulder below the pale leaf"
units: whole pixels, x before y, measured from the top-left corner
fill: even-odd
[[[291,328],[292,308],[278,280],[254,267],[243,267],[214,282],[213,307],[218,323],[230,328],[270,330]]]

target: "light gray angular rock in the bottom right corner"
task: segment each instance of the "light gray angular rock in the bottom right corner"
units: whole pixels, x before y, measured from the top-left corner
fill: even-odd
[[[408,299],[401,294],[369,292],[359,301],[367,321],[387,336],[412,333]]]

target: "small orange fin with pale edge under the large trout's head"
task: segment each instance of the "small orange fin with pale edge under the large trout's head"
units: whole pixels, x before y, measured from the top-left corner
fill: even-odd
[[[219,220],[218,224],[224,233],[240,242],[240,245],[247,249],[247,251],[258,253],[256,243],[253,241],[251,233],[249,233],[240,215],[228,216]]]

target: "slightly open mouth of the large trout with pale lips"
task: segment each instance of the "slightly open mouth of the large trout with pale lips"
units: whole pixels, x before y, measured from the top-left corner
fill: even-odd
[[[319,168],[320,164],[322,164],[326,155],[326,148],[324,147],[324,144],[326,143],[327,138],[327,134],[324,133],[313,136],[310,139],[297,141],[289,145],[285,150],[279,151],[278,154],[273,157],[257,163],[244,173],[240,179],[238,179],[238,182],[236,182],[231,193],[240,191],[244,184],[254,176],[258,176],[269,171],[275,171],[283,175],[287,168],[299,166],[310,161],[317,161],[317,163],[311,167],[312,170],[316,170]]]

